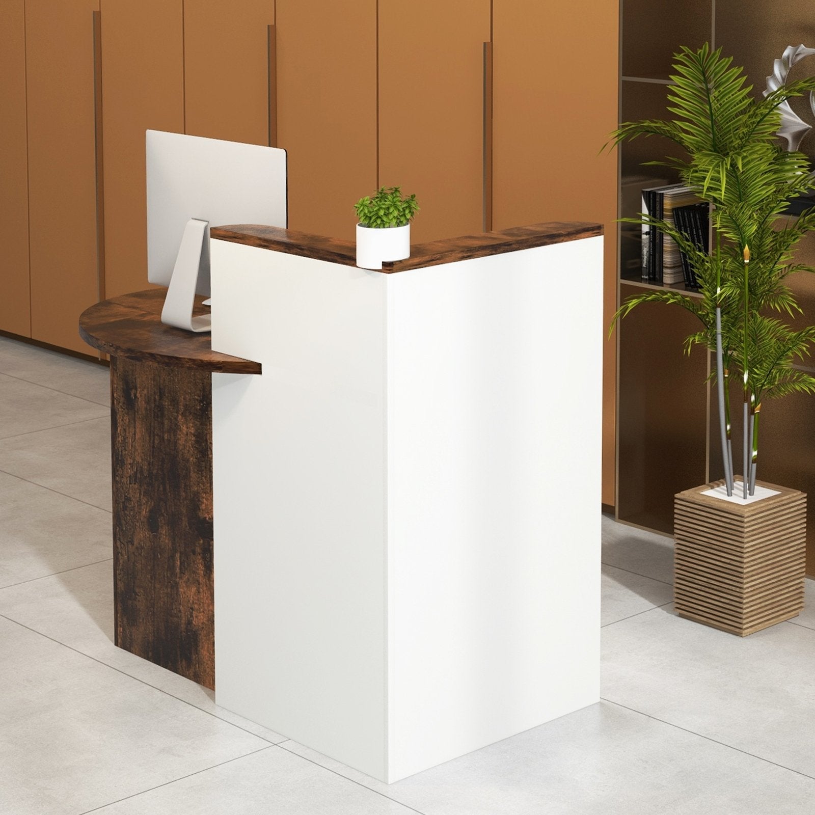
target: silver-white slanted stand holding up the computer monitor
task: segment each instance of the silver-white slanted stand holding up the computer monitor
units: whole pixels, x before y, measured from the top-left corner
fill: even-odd
[[[201,271],[209,272],[209,240],[207,240],[209,221],[190,218],[184,227],[178,256],[175,258],[170,288],[161,310],[161,322],[183,328],[185,331],[204,332],[212,330],[212,317],[192,316],[195,304],[198,275]],[[207,275],[209,276],[209,275]]]

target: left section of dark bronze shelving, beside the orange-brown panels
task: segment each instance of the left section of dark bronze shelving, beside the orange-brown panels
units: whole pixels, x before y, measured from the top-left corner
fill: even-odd
[[[672,55],[682,45],[698,47],[711,40],[713,3],[623,0],[621,12],[620,121],[666,118]],[[620,147],[621,218],[640,212],[643,187],[679,180],[667,167],[643,165],[667,155],[681,152],[660,139],[636,139]],[[620,225],[619,302],[642,289],[661,288],[641,280],[640,234],[637,225]],[[617,329],[616,515],[668,535],[674,494],[707,480],[707,355],[694,350],[686,356],[682,346],[694,322],[681,309],[647,303]]]

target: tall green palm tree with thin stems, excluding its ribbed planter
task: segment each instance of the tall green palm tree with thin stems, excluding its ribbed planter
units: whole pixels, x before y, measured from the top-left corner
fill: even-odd
[[[731,68],[732,59],[723,57],[721,49],[682,48],[675,59],[667,99],[668,111],[676,118],[629,122],[615,131],[612,143],[657,135],[684,148],[687,159],[650,163],[676,170],[686,186],[711,204],[715,245],[705,253],[672,224],[648,214],[624,218],[676,241],[694,267],[702,298],[670,289],[629,297],[615,323],[642,302],[672,303],[698,317],[702,327],[687,338],[686,350],[698,344],[716,353],[711,377],[716,379],[728,495],[734,489],[729,382],[734,375],[742,381],[742,491],[747,498],[756,484],[762,399],[815,393],[815,377],[794,367],[808,355],[815,327],[793,331],[778,319],[801,311],[786,277],[815,271],[792,259],[795,245],[815,227],[815,210],[783,218],[789,201],[808,192],[813,178],[806,156],[782,149],[777,136],[778,106],[815,90],[815,78],[755,99],[742,69]]]

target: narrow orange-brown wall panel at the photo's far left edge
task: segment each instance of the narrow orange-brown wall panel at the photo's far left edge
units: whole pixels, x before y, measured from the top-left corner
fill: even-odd
[[[30,337],[24,14],[23,0],[0,3],[0,223],[5,234],[0,331]]]

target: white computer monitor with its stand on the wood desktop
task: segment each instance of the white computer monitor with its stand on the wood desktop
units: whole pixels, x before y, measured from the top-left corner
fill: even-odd
[[[209,224],[286,227],[286,151],[161,130],[146,147],[148,281],[170,286],[165,323],[205,331],[192,297],[209,296]]]

